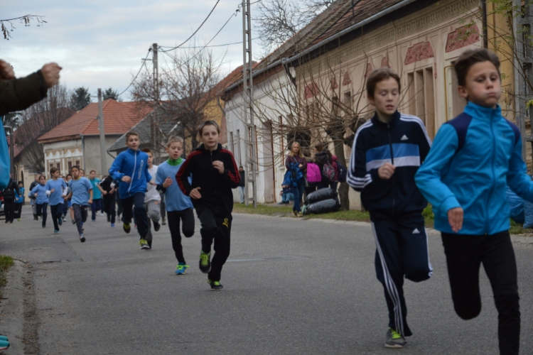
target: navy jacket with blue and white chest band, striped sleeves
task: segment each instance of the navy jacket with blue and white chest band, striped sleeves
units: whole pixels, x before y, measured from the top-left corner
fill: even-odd
[[[427,202],[414,175],[429,148],[431,140],[418,117],[396,111],[385,124],[374,115],[355,133],[346,182],[361,192],[361,202],[370,212],[390,216],[421,212]],[[377,173],[384,163],[395,167],[389,180]]]

